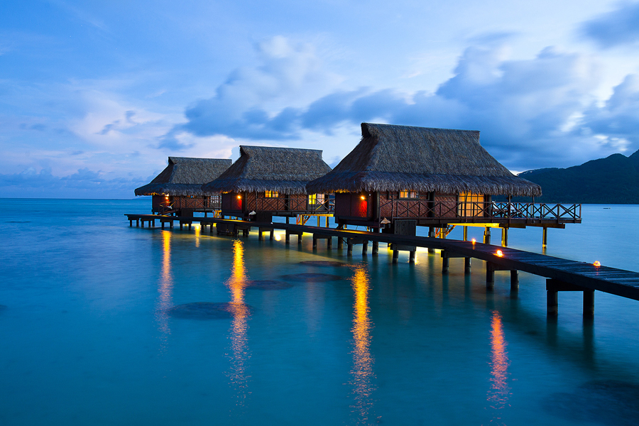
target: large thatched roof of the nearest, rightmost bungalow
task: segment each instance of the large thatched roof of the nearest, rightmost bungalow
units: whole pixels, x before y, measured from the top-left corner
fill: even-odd
[[[361,124],[361,141],[310,193],[400,191],[541,195],[479,145],[479,131]]]

